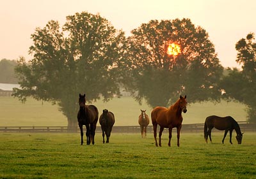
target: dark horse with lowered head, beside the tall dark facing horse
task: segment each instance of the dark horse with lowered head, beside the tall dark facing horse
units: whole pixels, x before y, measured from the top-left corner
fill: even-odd
[[[110,133],[112,127],[115,124],[115,116],[111,111],[103,110],[102,115],[100,115],[100,125],[102,130],[103,143],[105,143],[105,134],[107,137],[106,143],[109,143]],[[105,133],[105,134],[104,134]]]

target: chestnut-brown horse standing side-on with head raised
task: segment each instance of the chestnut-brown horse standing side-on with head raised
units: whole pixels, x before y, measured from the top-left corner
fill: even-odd
[[[159,131],[159,147],[161,147],[161,136],[164,128],[169,129],[169,142],[168,146],[171,147],[171,138],[172,138],[172,129],[173,127],[177,127],[177,146],[180,146],[180,129],[182,126],[182,111],[184,113],[187,112],[187,101],[186,97],[182,97],[180,95],[179,99],[176,101],[175,104],[170,106],[169,108],[163,107],[163,106],[157,106],[154,108],[151,112],[151,120],[154,127],[154,138],[156,141],[156,147],[157,140],[156,140],[156,131],[157,131],[157,124],[160,125],[160,131]]]

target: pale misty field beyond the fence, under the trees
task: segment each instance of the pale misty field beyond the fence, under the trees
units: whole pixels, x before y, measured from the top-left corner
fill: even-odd
[[[104,108],[115,114],[115,125],[138,125],[140,109],[147,110],[150,116],[150,108],[145,102],[140,106],[132,97],[114,98],[108,103],[97,101],[93,103],[102,113]],[[182,114],[183,124],[204,123],[209,115],[231,115],[237,121],[246,120],[246,106],[241,103],[225,101],[219,104],[195,103],[189,104],[188,112]],[[78,111],[78,105],[77,105]],[[75,119],[76,120],[76,119]],[[51,103],[36,101],[29,98],[25,104],[17,98],[0,97],[0,125],[1,126],[67,126],[67,118],[58,111],[58,106]]]

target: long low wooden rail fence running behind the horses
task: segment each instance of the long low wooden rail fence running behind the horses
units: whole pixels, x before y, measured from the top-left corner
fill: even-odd
[[[241,131],[252,131],[256,132],[256,124],[250,124],[248,122],[238,122]],[[159,127],[158,127],[159,128]],[[175,128],[173,129],[175,130]],[[85,127],[84,127],[85,131]],[[159,129],[157,130],[159,131]],[[164,132],[168,130],[164,129]],[[203,132],[204,131],[204,124],[182,124],[181,132]],[[80,132],[79,127],[75,129],[69,129],[66,126],[0,126],[0,132]],[[101,132],[101,128],[98,125],[96,132]],[[112,132],[118,133],[134,133],[140,132],[140,126],[113,126]],[[153,132],[153,126],[148,125],[147,132]]]

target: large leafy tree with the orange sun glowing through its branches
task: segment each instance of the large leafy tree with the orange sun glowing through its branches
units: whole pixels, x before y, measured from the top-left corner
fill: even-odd
[[[131,33],[131,83],[126,87],[136,100],[144,98],[152,107],[168,106],[180,94],[187,94],[192,103],[220,100],[223,68],[202,27],[195,27],[188,18],[150,20]],[[176,54],[167,53],[172,46]]]

